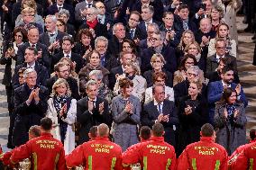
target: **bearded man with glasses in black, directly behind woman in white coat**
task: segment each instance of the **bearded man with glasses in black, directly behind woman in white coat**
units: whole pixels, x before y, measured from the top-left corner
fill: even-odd
[[[51,77],[46,81],[46,86],[51,94],[52,85],[58,80],[58,78],[64,78],[67,80],[69,84],[69,88],[71,91],[71,96],[77,100],[80,99],[78,94],[78,81],[70,76],[69,67],[65,65],[65,63],[59,62],[55,67],[55,76]]]

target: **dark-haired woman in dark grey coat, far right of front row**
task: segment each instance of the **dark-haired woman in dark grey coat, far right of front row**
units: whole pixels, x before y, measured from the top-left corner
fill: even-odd
[[[243,103],[237,102],[237,97],[236,91],[227,87],[215,106],[216,142],[226,148],[229,156],[246,143],[245,109]]]

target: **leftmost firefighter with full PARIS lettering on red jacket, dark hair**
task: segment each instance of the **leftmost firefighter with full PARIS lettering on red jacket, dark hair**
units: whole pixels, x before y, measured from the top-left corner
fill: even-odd
[[[58,139],[52,138],[51,126],[50,118],[42,118],[41,137],[31,139],[19,148],[15,148],[11,157],[12,164],[32,157],[32,169],[66,169],[63,145]]]

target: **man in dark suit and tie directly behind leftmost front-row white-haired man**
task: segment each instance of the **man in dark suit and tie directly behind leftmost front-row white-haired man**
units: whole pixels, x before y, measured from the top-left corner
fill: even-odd
[[[18,71],[22,67],[33,68],[37,73],[36,84],[46,85],[45,84],[46,79],[50,77],[50,74],[46,67],[42,66],[38,61],[36,61],[37,56],[38,56],[38,52],[35,48],[28,47],[25,50],[24,63],[21,65],[18,65],[14,71],[14,76],[13,76],[14,89],[20,85]]]

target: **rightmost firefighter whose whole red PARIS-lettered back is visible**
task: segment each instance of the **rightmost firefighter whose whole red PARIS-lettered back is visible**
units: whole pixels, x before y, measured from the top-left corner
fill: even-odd
[[[214,127],[206,123],[200,133],[200,141],[188,145],[178,157],[177,170],[226,170],[227,152],[215,143]]]

